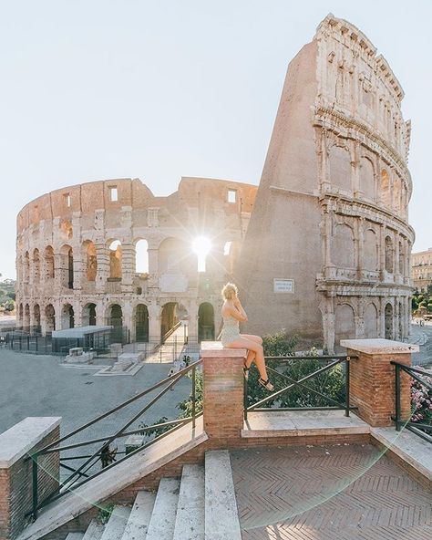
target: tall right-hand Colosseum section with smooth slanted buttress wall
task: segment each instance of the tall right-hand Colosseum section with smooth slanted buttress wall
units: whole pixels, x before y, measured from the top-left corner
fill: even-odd
[[[236,271],[248,332],[284,327],[329,351],[343,338],[407,337],[403,97],[385,58],[333,15],[293,58]]]

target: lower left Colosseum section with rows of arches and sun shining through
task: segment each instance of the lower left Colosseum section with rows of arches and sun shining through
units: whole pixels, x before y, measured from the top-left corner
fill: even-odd
[[[139,179],[119,179],[42,195],[17,217],[17,324],[43,335],[112,324],[157,342],[187,318],[190,341],[214,338],[256,190],[183,178],[156,197]],[[212,243],[201,273],[191,249],[200,235]]]

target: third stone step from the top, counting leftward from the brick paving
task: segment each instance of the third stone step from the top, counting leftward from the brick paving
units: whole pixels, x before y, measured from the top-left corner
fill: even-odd
[[[179,502],[180,480],[162,478],[151,514],[146,540],[172,540]]]

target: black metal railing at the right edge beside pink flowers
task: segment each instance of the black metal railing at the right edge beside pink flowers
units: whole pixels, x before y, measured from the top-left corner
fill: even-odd
[[[392,361],[391,364],[395,366],[395,411],[396,414],[392,418],[396,424],[396,431],[401,431],[402,428],[411,431],[424,439],[425,441],[432,442],[432,423],[426,423],[421,421],[412,421],[413,416],[416,414],[416,404],[411,400],[411,416],[409,419],[402,418],[402,403],[401,403],[401,372],[406,373],[409,377],[416,381],[423,389],[426,390],[427,397],[423,403],[427,412],[428,405],[432,402],[432,371],[426,369],[413,368],[412,366],[406,366],[399,362]],[[429,380],[426,380],[426,379]],[[410,382],[411,385],[411,382]],[[410,396],[411,397],[411,396]],[[429,403],[427,403],[429,400]]]

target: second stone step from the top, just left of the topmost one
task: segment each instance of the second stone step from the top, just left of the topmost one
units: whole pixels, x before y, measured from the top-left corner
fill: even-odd
[[[173,540],[204,539],[204,467],[183,465]]]

